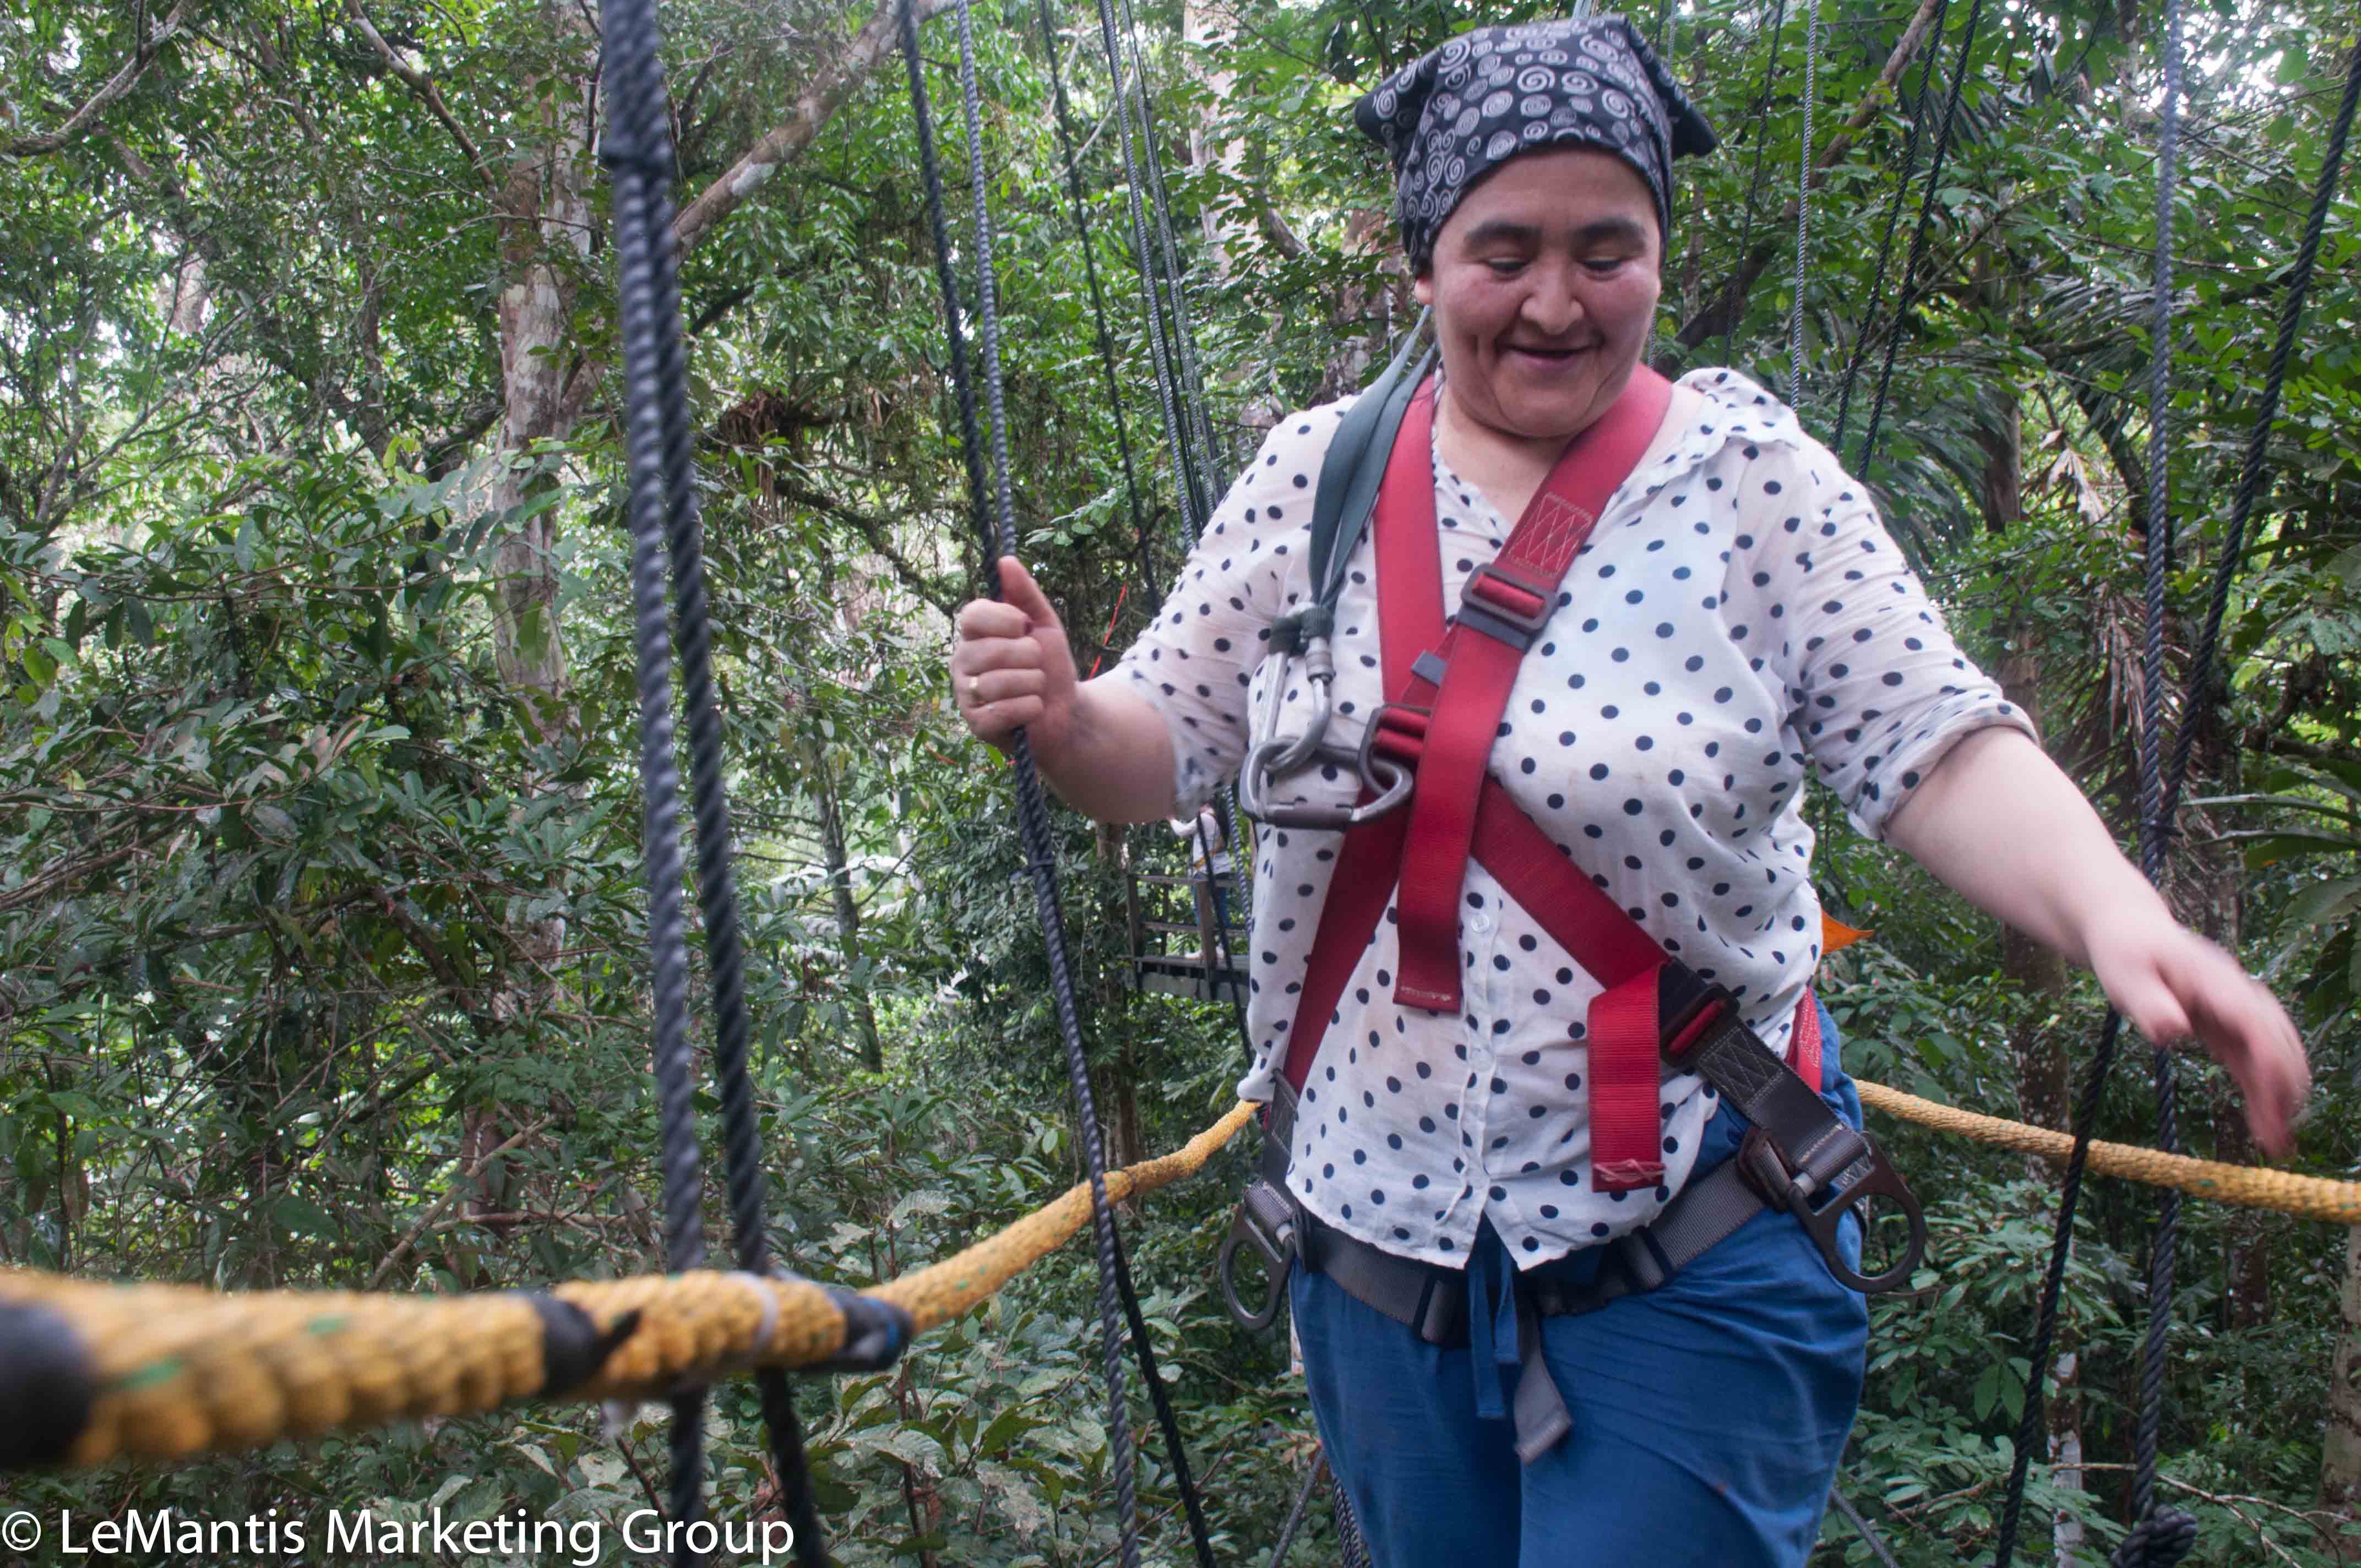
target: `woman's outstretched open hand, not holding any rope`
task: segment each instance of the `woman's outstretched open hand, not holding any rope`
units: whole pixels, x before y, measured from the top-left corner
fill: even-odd
[[[2241,1093],[2255,1143],[2274,1159],[2295,1145],[2311,1091],[2304,1041],[2262,980],[2177,923],[2163,900],[2118,907],[2085,935],[2089,968],[2123,1018],[2158,1044],[2196,1039]]]

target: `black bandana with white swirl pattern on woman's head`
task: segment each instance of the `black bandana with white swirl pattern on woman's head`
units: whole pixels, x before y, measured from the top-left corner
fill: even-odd
[[[1443,220],[1476,182],[1537,146],[1596,146],[1639,170],[1672,239],[1672,161],[1714,151],[1655,52],[1622,17],[1476,28],[1402,66],[1353,106],[1393,158],[1393,213],[1426,272]]]

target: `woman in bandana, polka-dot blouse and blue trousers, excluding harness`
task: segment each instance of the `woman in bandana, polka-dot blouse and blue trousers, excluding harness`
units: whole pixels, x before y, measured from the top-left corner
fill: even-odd
[[[1454,38],[1358,120],[1393,156],[1433,307],[1433,510],[1457,605],[1561,451],[1646,387],[1669,165],[1712,132],[1620,19]],[[1195,810],[1240,767],[1265,699],[1299,732],[1308,682],[1263,652],[1308,597],[1306,522],[1341,413],[1270,435],[1100,680],[1077,685],[1055,612],[1001,562],[1006,600],[968,605],[951,654],[970,730],[999,744],[1027,727],[1051,786],[1117,822]],[[1388,697],[1369,553],[1336,605],[1332,739],[1346,741]],[[1818,1086],[1846,1122],[1858,1103],[1806,1001],[1820,956],[1806,770],[1860,831],[2097,971],[2149,1039],[2198,1037],[2262,1145],[2288,1148],[2307,1072],[2285,1013],[2172,921],[1957,652],[1868,491],[1773,397],[1731,371],[1686,375],[1563,588],[1516,666],[1492,782],[1773,1051],[1816,1023]],[[1329,772],[1299,786],[1350,801],[1358,782]],[[1336,843],[1263,834],[1249,1098],[1273,1093]],[[1459,886],[1459,1004],[1402,999],[1407,921],[1391,907],[1325,1025],[1287,1150],[1287,1193],[1322,1237],[1466,1294],[1469,1344],[1428,1344],[1329,1273],[1296,1270],[1313,1410],[1372,1559],[1801,1563],[1860,1393],[1863,1299],[1804,1226],[1764,1209],[1660,1289],[1535,1325],[1535,1280],[1596,1275],[1605,1244],[1731,1159],[1745,1126],[1676,1072],[1655,1185],[1608,1181],[1584,1086],[1598,982],[1480,860]],[[1542,1377],[1570,1415],[1546,1445],[1520,1431]]]

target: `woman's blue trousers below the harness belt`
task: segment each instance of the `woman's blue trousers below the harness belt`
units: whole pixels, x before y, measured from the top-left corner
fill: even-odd
[[[1825,1008],[1820,1041],[1823,1098],[1858,1126]],[[1742,1136],[1724,1105],[1698,1171]],[[1511,1273],[1485,1226],[1471,1318],[1492,1315]],[[1868,1306],[1792,1216],[1757,1214],[1650,1294],[1544,1318],[1575,1429],[1532,1464],[1509,1419],[1478,1415],[1466,1346],[1424,1344],[1306,1268],[1289,1289],[1320,1440],[1374,1568],[1801,1568],[1811,1554],[1860,1405]],[[1513,1393],[1518,1370],[1497,1377]]]

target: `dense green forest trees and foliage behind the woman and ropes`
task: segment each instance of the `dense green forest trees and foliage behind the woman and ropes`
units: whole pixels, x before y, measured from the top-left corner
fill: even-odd
[[[0,7],[0,1263],[408,1292],[661,1268],[593,9]],[[2342,0],[2182,9],[2174,682],[2361,47]],[[1138,9],[1218,470],[1350,392],[1414,316],[1350,99],[1454,31],[1554,12]],[[772,1242],[798,1273],[871,1285],[1079,1178],[1011,770],[942,678],[980,555],[911,106],[890,7],[663,14]],[[2144,472],[2163,2],[1820,0],[1809,149],[1804,0],[1631,14],[1724,137],[1681,170],[1657,366],[1728,364],[1797,401],[2130,841],[2141,545],[2165,522]],[[963,191],[949,28],[926,57]],[[1188,543],[1124,184],[1145,128],[1119,113],[1093,9],[977,0],[975,28],[1015,505],[1091,666]],[[2361,1164],[2354,189],[2347,172],[2328,215],[2170,855],[2184,919],[2300,1013],[2316,1091],[2293,1167],[2323,1176]],[[1152,201],[1143,217],[1162,248]],[[1830,912],[1872,933],[1823,975],[1844,1065],[2064,1126],[2101,1011],[2087,975],[1830,801],[1809,810]],[[1126,985],[1126,869],[1178,876],[1173,836],[1065,810],[1055,829],[1110,1159],[1131,1162],[1232,1103],[1242,1046],[1228,1008]],[[2101,1138],[2153,1138],[2144,1079],[2127,1051]],[[1988,1556],[2056,1174],[1872,1131],[1934,1244],[1917,1289],[1875,1304],[1839,1490],[1910,1568]],[[2196,1058],[2182,1131],[2255,1159]],[[1284,1337],[1235,1329],[1211,1289],[1249,1162],[1242,1143],[1121,1221],[1216,1556],[1261,1568],[1315,1438]],[[715,1235],[720,1214],[715,1181]],[[2023,1561],[2099,1563],[2120,1540],[2151,1216],[2144,1188],[2085,1190]],[[2179,1244],[2163,1469],[2203,1523],[2191,1561],[2361,1561],[2361,1230],[2193,1202]],[[838,1561],[1117,1561],[1093,1292],[1077,1244],[892,1372],[798,1384]],[[1145,1561],[1178,1566],[1136,1372],[1131,1396]],[[751,1386],[715,1393],[708,1462],[718,1516],[774,1504]],[[656,1407],[527,1407],[14,1478],[9,1507],[614,1521],[661,1502],[663,1466]],[[1291,1561],[1339,1561],[1325,1502]],[[1813,1563],[1868,1561],[1830,1514]]]

